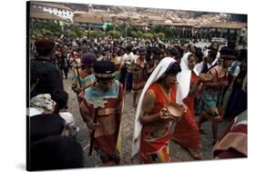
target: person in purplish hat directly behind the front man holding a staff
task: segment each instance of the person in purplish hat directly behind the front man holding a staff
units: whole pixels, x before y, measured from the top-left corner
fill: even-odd
[[[93,75],[93,66],[96,61],[97,57],[93,53],[85,53],[82,55],[79,76],[76,74],[72,82],[72,89],[77,95],[95,82],[96,78]]]

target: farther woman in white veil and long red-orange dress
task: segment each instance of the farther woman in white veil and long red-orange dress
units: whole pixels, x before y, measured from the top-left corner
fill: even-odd
[[[183,102],[188,106],[188,110],[177,122],[172,138],[176,143],[187,148],[191,157],[201,159],[200,132],[194,116],[194,97],[200,86],[199,76],[194,70],[195,65],[196,57],[191,53],[186,53],[180,60],[177,102]]]

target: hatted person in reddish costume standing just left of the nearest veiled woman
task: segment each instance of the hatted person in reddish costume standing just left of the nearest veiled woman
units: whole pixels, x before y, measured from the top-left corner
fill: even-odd
[[[146,48],[138,49],[138,56],[131,63],[133,106],[137,107],[138,92],[142,90],[147,80]]]

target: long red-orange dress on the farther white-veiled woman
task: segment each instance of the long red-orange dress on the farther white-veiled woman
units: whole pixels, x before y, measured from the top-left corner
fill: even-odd
[[[198,77],[192,73],[191,83],[197,83]],[[200,148],[200,132],[194,116],[194,96],[187,96],[183,103],[188,106],[188,111],[181,116],[172,134],[173,139],[183,147],[192,149]]]

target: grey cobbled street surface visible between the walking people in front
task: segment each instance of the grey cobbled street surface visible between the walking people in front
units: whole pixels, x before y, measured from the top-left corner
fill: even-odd
[[[69,111],[75,117],[77,122],[77,126],[79,126],[80,131],[77,135],[77,140],[84,147],[84,157],[85,157],[85,167],[98,167],[101,164],[100,159],[97,157],[95,151],[91,157],[88,157],[88,144],[89,144],[89,135],[87,130],[87,125],[83,122],[82,117],[79,114],[78,104],[77,104],[77,96],[71,90],[71,78],[72,78],[72,71],[68,73],[68,79],[64,79],[65,90],[69,95],[68,99],[68,107]],[[121,160],[121,165],[130,165],[130,153],[131,153],[131,141],[132,141],[132,133],[133,133],[133,123],[135,118],[135,109],[131,105],[132,102],[132,94],[128,93],[126,97],[126,103],[124,107],[124,114],[123,114],[123,123],[121,125],[123,133],[122,133],[122,140],[125,140],[122,144],[123,149],[123,157]],[[198,118],[198,117],[197,117]],[[225,130],[227,126],[227,121],[223,121],[220,124],[220,131],[219,136]],[[211,135],[211,123],[206,122],[202,124],[202,128],[205,130],[206,135],[202,135],[202,147],[201,152],[203,154],[203,160],[212,159],[212,135]],[[194,160],[192,157],[189,156],[189,153],[179,145],[170,142],[170,152],[173,162],[181,162],[181,161],[192,161]]]

